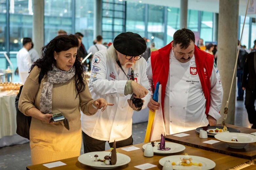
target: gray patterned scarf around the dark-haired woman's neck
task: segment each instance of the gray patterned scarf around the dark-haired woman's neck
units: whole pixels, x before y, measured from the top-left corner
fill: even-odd
[[[40,111],[43,113],[52,113],[52,88],[53,84],[65,83],[75,75],[75,67],[69,71],[62,71],[55,66],[52,71],[47,72],[48,81],[43,84],[40,96]]]

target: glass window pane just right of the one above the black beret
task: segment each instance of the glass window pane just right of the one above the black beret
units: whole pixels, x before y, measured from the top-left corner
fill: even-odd
[[[148,6],[148,37],[146,38],[149,39],[150,42],[154,42],[156,48],[161,48],[166,45],[164,42],[164,9],[163,6]]]

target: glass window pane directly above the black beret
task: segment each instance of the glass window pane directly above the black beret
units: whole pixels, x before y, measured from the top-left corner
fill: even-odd
[[[127,2],[126,31],[145,37],[145,4]]]

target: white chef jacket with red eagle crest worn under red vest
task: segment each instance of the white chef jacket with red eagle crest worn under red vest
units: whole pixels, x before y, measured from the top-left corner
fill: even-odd
[[[191,67],[192,70],[191,70]],[[216,68],[215,68],[216,67]],[[192,130],[209,124],[206,98],[196,68],[195,56],[186,63],[179,62],[170,52],[169,76],[164,101],[164,122],[167,135]],[[148,59],[147,74],[153,86],[151,61]],[[222,104],[223,89],[217,66],[210,76],[210,108],[208,114],[218,120]]]

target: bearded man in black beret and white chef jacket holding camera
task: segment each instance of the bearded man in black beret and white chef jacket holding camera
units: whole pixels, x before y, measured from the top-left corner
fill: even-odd
[[[119,34],[113,44],[93,56],[89,90],[92,98],[102,97],[114,106],[103,112],[87,116],[82,114],[84,150],[104,151],[105,142],[110,147],[133,144],[131,136],[132,114],[147,107],[150,99],[147,62],[140,55],[147,48],[146,42],[136,33]],[[141,98],[143,106],[137,108],[130,100],[131,94]]]

